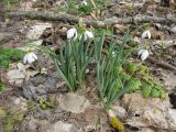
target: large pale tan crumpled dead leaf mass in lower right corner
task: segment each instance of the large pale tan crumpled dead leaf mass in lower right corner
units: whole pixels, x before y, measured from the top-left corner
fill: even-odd
[[[141,94],[124,95],[123,105],[128,108],[127,124],[176,130],[176,110],[169,99],[143,98]]]

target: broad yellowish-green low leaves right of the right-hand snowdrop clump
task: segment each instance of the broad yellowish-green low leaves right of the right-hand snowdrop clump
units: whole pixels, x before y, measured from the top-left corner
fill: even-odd
[[[141,94],[143,97],[153,97],[153,98],[166,98],[166,91],[163,87],[161,87],[156,81],[153,80],[153,77],[148,75],[148,68],[146,66],[143,66],[141,64],[128,62],[127,72],[123,73],[124,78],[128,78],[128,74],[133,74],[131,78],[135,79],[128,79],[127,81],[133,81],[132,90],[129,92],[135,91],[138,89],[141,89]],[[139,78],[139,79],[136,79]],[[134,88],[134,81],[138,81],[139,84],[138,88]],[[129,84],[129,82],[128,82]],[[132,82],[131,82],[132,84]],[[141,85],[140,85],[141,84]]]

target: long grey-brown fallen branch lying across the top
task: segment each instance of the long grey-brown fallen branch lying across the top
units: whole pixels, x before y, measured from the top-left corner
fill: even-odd
[[[54,13],[54,12],[40,12],[40,11],[16,11],[16,10],[0,10],[0,14],[10,16],[10,18],[26,18],[32,20],[45,20],[45,21],[64,21],[69,23],[78,23],[81,18],[76,15],[70,15],[66,13]],[[124,19],[121,18],[111,18],[106,19],[105,21],[91,20],[82,18],[84,22],[87,25],[105,28],[113,26],[114,24],[129,24],[129,23],[143,23],[143,22],[156,22],[156,23],[176,23],[176,18],[156,18],[148,15],[135,15],[128,16]]]

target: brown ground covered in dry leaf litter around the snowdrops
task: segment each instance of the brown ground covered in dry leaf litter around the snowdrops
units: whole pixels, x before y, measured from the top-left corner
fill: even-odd
[[[21,0],[11,8],[63,11],[65,4],[64,0]],[[160,0],[112,0],[103,9],[103,18],[127,18],[136,14],[176,18],[176,8],[174,3],[170,7],[162,7]],[[90,14],[86,16],[95,19]],[[131,31],[138,29],[132,38],[140,44],[150,44],[151,56],[156,61],[176,67],[176,23],[150,22],[151,40],[141,38],[144,24],[146,23],[117,24],[113,32],[116,37],[121,40],[124,28],[129,26]],[[23,48],[26,44],[35,42],[57,48],[64,44],[66,29],[69,26],[66,22],[0,18],[0,47]],[[65,81],[55,72],[52,58],[40,52],[36,54],[38,61],[33,65],[23,65],[21,61],[11,64],[7,70],[0,68],[0,79],[7,84],[6,90],[0,94],[0,109],[8,110],[9,119],[14,114],[23,117],[23,120],[15,121],[14,132],[118,131],[110,127],[108,116],[98,98],[94,65],[89,67],[86,87],[70,94]],[[176,72],[147,59],[145,65],[155,79],[164,85],[169,96],[163,100],[143,98],[140,91],[125,94],[112,108],[123,122],[125,132],[175,132]],[[50,100],[47,109],[41,108],[41,99]],[[4,132],[4,117],[0,119],[0,132]]]

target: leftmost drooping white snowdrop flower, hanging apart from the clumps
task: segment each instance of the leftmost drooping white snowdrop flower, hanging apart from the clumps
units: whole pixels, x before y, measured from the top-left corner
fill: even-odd
[[[23,63],[24,64],[26,64],[26,63],[32,64],[36,59],[37,59],[37,56],[33,52],[30,52],[30,53],[25,54],[25,56],[23,58]]]

